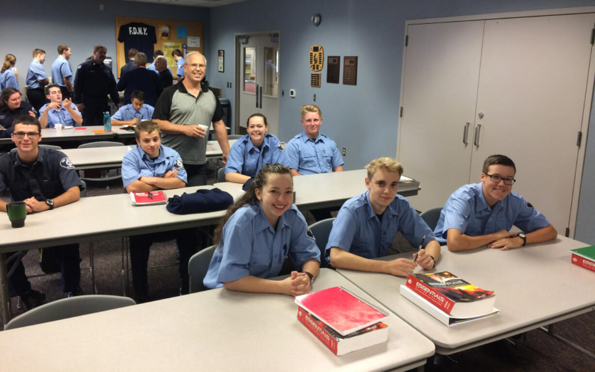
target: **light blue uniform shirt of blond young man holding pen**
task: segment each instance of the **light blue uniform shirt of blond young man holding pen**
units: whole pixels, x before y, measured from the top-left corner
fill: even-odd
[[[329,264],[331,247],[364,258],[378,258],[387,256],[397,232],[414,247],[421,244],[424,235],[426,242],[431,240],[431,229],[406,198],[397,195],[384,210],[382,220],[378,220],[368,194],[366,191],[350,198],[339,210],[324,251]]]

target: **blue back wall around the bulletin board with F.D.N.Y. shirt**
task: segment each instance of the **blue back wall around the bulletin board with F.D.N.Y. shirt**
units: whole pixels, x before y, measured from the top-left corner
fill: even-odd
[[[99,10],[99,4],[104,10]],[[93,46],[108,48],[114,59],[116,74],[115,17],[139,17],[204,23],[204,40],[209,35],[208,8],[180,7],[121,0],[18,0],[2,6],[0,12],[0,58],[7,53],[17,57],[18,86],[24,92],[27,69],[33,58],[33,49],[46,52],[43,68],[51,76],[52,63],[58,56],[58,45],[72,49],[70,65],[74,69],[93,54]],[[205,45],[206,47],[206,45]],[[207,49],[205,48],[205,52]],[[147,56],[152,61],[152,56]],[[75,72],[76,74],[76,72]]]

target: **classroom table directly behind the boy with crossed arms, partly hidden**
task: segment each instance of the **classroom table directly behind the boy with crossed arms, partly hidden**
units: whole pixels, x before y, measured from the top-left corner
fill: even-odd
[[[229,140],[230,146],[236,140]],[[87,147],[84,149],[63,149],[61,150],[73,163],[76,169],[92,168],[117,168],[122,166],[122,159],[127,152],[136,147],[110,146],[110,147]],[[223,155],[221,146],[217,141],[208,141],[206,144],[206,157],[217,159]]]

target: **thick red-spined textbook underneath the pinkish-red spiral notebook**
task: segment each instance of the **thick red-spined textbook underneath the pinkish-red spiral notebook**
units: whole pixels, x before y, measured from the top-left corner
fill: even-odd
[[[386,342],[389,339],[389,328],[381,321],[342,336],[302,307],[297,307],[297,319],[335,355],[347,354],[377,343]]]

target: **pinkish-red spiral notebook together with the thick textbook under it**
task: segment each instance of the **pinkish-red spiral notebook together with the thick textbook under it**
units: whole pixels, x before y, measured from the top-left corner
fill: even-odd
[[[297,319],[335,355],[386,342],[389,313],[343,287],[297,296]]]

